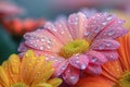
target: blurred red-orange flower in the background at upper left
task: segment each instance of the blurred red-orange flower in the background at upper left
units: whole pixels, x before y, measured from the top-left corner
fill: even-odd
[[[26,18],[25,21],[14,18],[3,22],[3,26],[6,28],[6,30],[14,36],[22,36],[27,32],[31,32],[42,26],[43,24],[44,21],[42,18],[41,20]]]

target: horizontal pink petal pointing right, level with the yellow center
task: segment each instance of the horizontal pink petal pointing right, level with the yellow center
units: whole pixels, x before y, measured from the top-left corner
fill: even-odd
[[[113,39],[100,39],[95,40],[91,49],[93,50],[116,50],[119,48],[119,42]]]

